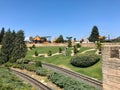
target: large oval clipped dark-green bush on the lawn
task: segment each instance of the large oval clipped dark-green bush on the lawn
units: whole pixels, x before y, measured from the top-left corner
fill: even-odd
[[[94,65],[100,60],[97,55],[93,54],[82,54],[75,56],[71,59],[70,63],[76,67],[89,67]]]

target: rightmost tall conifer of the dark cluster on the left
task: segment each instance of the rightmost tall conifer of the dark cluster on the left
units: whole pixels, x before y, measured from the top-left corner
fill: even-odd
[[[24,39],[25,39],[24,32],[22,30],[18,31],[16,33],[14,48],[11,53],[12,56],[10,62],[16,62],[17,59],[21,59],[25,57],[27,52],[27,47]]]

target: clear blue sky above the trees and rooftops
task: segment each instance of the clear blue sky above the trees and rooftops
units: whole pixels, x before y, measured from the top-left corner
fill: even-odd
[[[0,0],[0,30],[24,30],[26,37],[120,36],[120,0]]]

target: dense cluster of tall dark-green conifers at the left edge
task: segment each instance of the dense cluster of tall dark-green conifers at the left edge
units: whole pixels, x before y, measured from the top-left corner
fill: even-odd
[[[11,32],[10,29],[5,32],[2,47],[0,62],[6,63],[16,62],[17,59],[24,58],[27,52],[27,47],[24,41],[24,32],[22,30]]]

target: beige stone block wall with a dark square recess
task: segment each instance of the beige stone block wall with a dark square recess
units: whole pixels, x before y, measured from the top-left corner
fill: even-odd
[[[103,90],[120,90],[120,45],[102,48]]]

